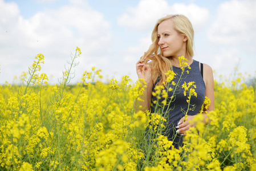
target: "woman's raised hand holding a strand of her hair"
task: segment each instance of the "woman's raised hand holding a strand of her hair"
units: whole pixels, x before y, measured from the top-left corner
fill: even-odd
[[[138,60],[136,63],[136,72],[139,79],[144,79],[145,82],[149,83],[151,81],[151,67],[149,64],[144,64],[145,60]]]

